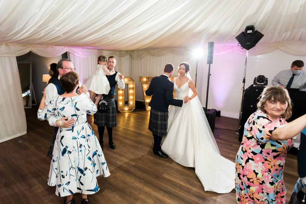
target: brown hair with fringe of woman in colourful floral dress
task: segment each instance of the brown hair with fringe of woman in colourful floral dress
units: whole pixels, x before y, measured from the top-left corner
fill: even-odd
[[[279,86],[271,86],[263,89],[263,92],[258,97],[259,102],[257,103],[257,108],[263,113],[267,113],[264,109],[266,101],[271,101],[272,99],[277,102],[287,102],[288,106],[285,110],[285,113],[281,117],[288,119],[292,115],[292,103],[287,89]]]

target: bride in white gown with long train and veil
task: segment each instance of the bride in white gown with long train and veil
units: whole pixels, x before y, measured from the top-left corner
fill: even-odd
[[[189,67],[187,62],[181,63],[174,78],[175,99],[183,99],[189,91],[189,102],[182,107],[170,106],[162,151],[180,165],[195,168],[205,191],[228,193],[235,187],[235,163],[220,155]]]

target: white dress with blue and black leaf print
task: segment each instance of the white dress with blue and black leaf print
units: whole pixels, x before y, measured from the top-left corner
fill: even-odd
[[[110,176],[99,141],[87,122],[87,114],[96,111],[87,95],[80,94],[72,98],[55,96],[37,112],[39,120],[51,115],[75,119],[71,128],[59,128],[54,143],[48,185],[56,186],[58,196],[94,194],[99,191],[96,177]]]

